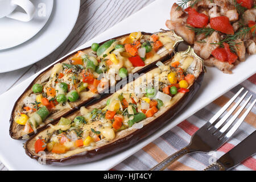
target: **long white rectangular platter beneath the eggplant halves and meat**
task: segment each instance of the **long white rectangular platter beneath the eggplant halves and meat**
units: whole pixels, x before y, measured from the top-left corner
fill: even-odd
[[[129,18],[116,24],[103,34],[90,40],[88,43],[85,43],[80,48],[88,47],[93,42],[102,42],[106,39],[126,34],[127,32],[138,30],[154,32],[158,31],[160,28],[166,28],[164,23],[170,16],[170,9],[173,3],[173,0],[155,1],[144,9],[131,15]],[[145,16],[147,16],[147,18],[144,18]],[[132,26],[127,26],[129,24],[132,24]],[[160,129],[154,135],[144,139],[142,142],[139,142],[123,152],[119,152],[118,154],[97,162],[64,167],[44,166],[35,160],[28,158],[23,149],[24,142],[13,140],[9,136],[9,119],[14,102],[20,96],[23,90],[30,84],[30,82],[36,77],[36,75],[39,74],[38,73],[0,96],[0,160],[7,168],[11,170],[108,170],[122,162],[122,160],[128,158],[130,155],[133,155],[135,152],[156,138],[160,137],[168,130],[172,129],[172,127],[176,126],[178,123],[188,118],[196,111],[208,105],[217,97],[221,96],[225,92],[228,92],[228,90],[232,89],[234,86],[240,84],[240,82],[253,75],[256,72],[255,58],[256,56],[248,57],[244,63],[239,64],[238,67],[234,69],[234,73],[232,75],[226,75],[218,71],[216,68],[209,68],[208,72],[205,73],[204,82],[199,92],[195,98],[193,98],[191,103],[184,109],[184,111],[180,113],[179,117],[176,117],[168,125]]]

